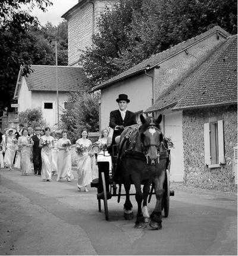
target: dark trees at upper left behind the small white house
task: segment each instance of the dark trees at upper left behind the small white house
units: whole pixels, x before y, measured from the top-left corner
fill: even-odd
[[[58,28],[51,23],[39,26],[36,17],[27,11],[19,11],[28,4],[42,10],[51,5],[49,0],[4,0],[0,2],[0,116],[4,107],[11,109],[15,84],[20,66],[23,75],[29,75],[31,64],[55,64],[55,42]],[[19,10],[18,10],[19,9]],[[67,24],[59,25],[58,64],[67,65]]]

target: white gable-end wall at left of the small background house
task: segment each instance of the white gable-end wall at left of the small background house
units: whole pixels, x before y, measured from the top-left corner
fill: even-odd
[[[21,79],[21,87],[18,93],[18,112],[25,111],[32,108],[32,91],[28,90],[26,79]]]

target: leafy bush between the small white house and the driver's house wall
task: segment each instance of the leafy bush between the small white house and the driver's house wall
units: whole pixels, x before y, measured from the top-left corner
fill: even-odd
[[[81,136],[83,129],[99,131],[99,98],[99,94],[89,92],[71,92],[68,95],[67,109],[61,115],[61,122],[72,141]]]

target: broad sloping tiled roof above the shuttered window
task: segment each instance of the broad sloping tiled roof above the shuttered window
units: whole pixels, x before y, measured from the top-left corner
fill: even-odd
[[[180,83],[170,87],[146,112],[218,106],[237,102],[237,35],[229,36]]]

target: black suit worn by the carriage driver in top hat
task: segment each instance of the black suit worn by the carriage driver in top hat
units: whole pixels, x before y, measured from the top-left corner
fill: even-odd
[[[123,125],[124,127],[128,127],[130,125],[135,125],[136,123],[136,114],[133,112],[127,110],[125,118],[121,117],[121,112],[120,110],[114,110],[110,113],[110,122],[109,122],[109,127],[114,129],[117,125]],[[113,136],[112,136],[112,144],[115,144],[115,137],[118,135],[121,135],[121,132],[123,130],[114,130]]]

